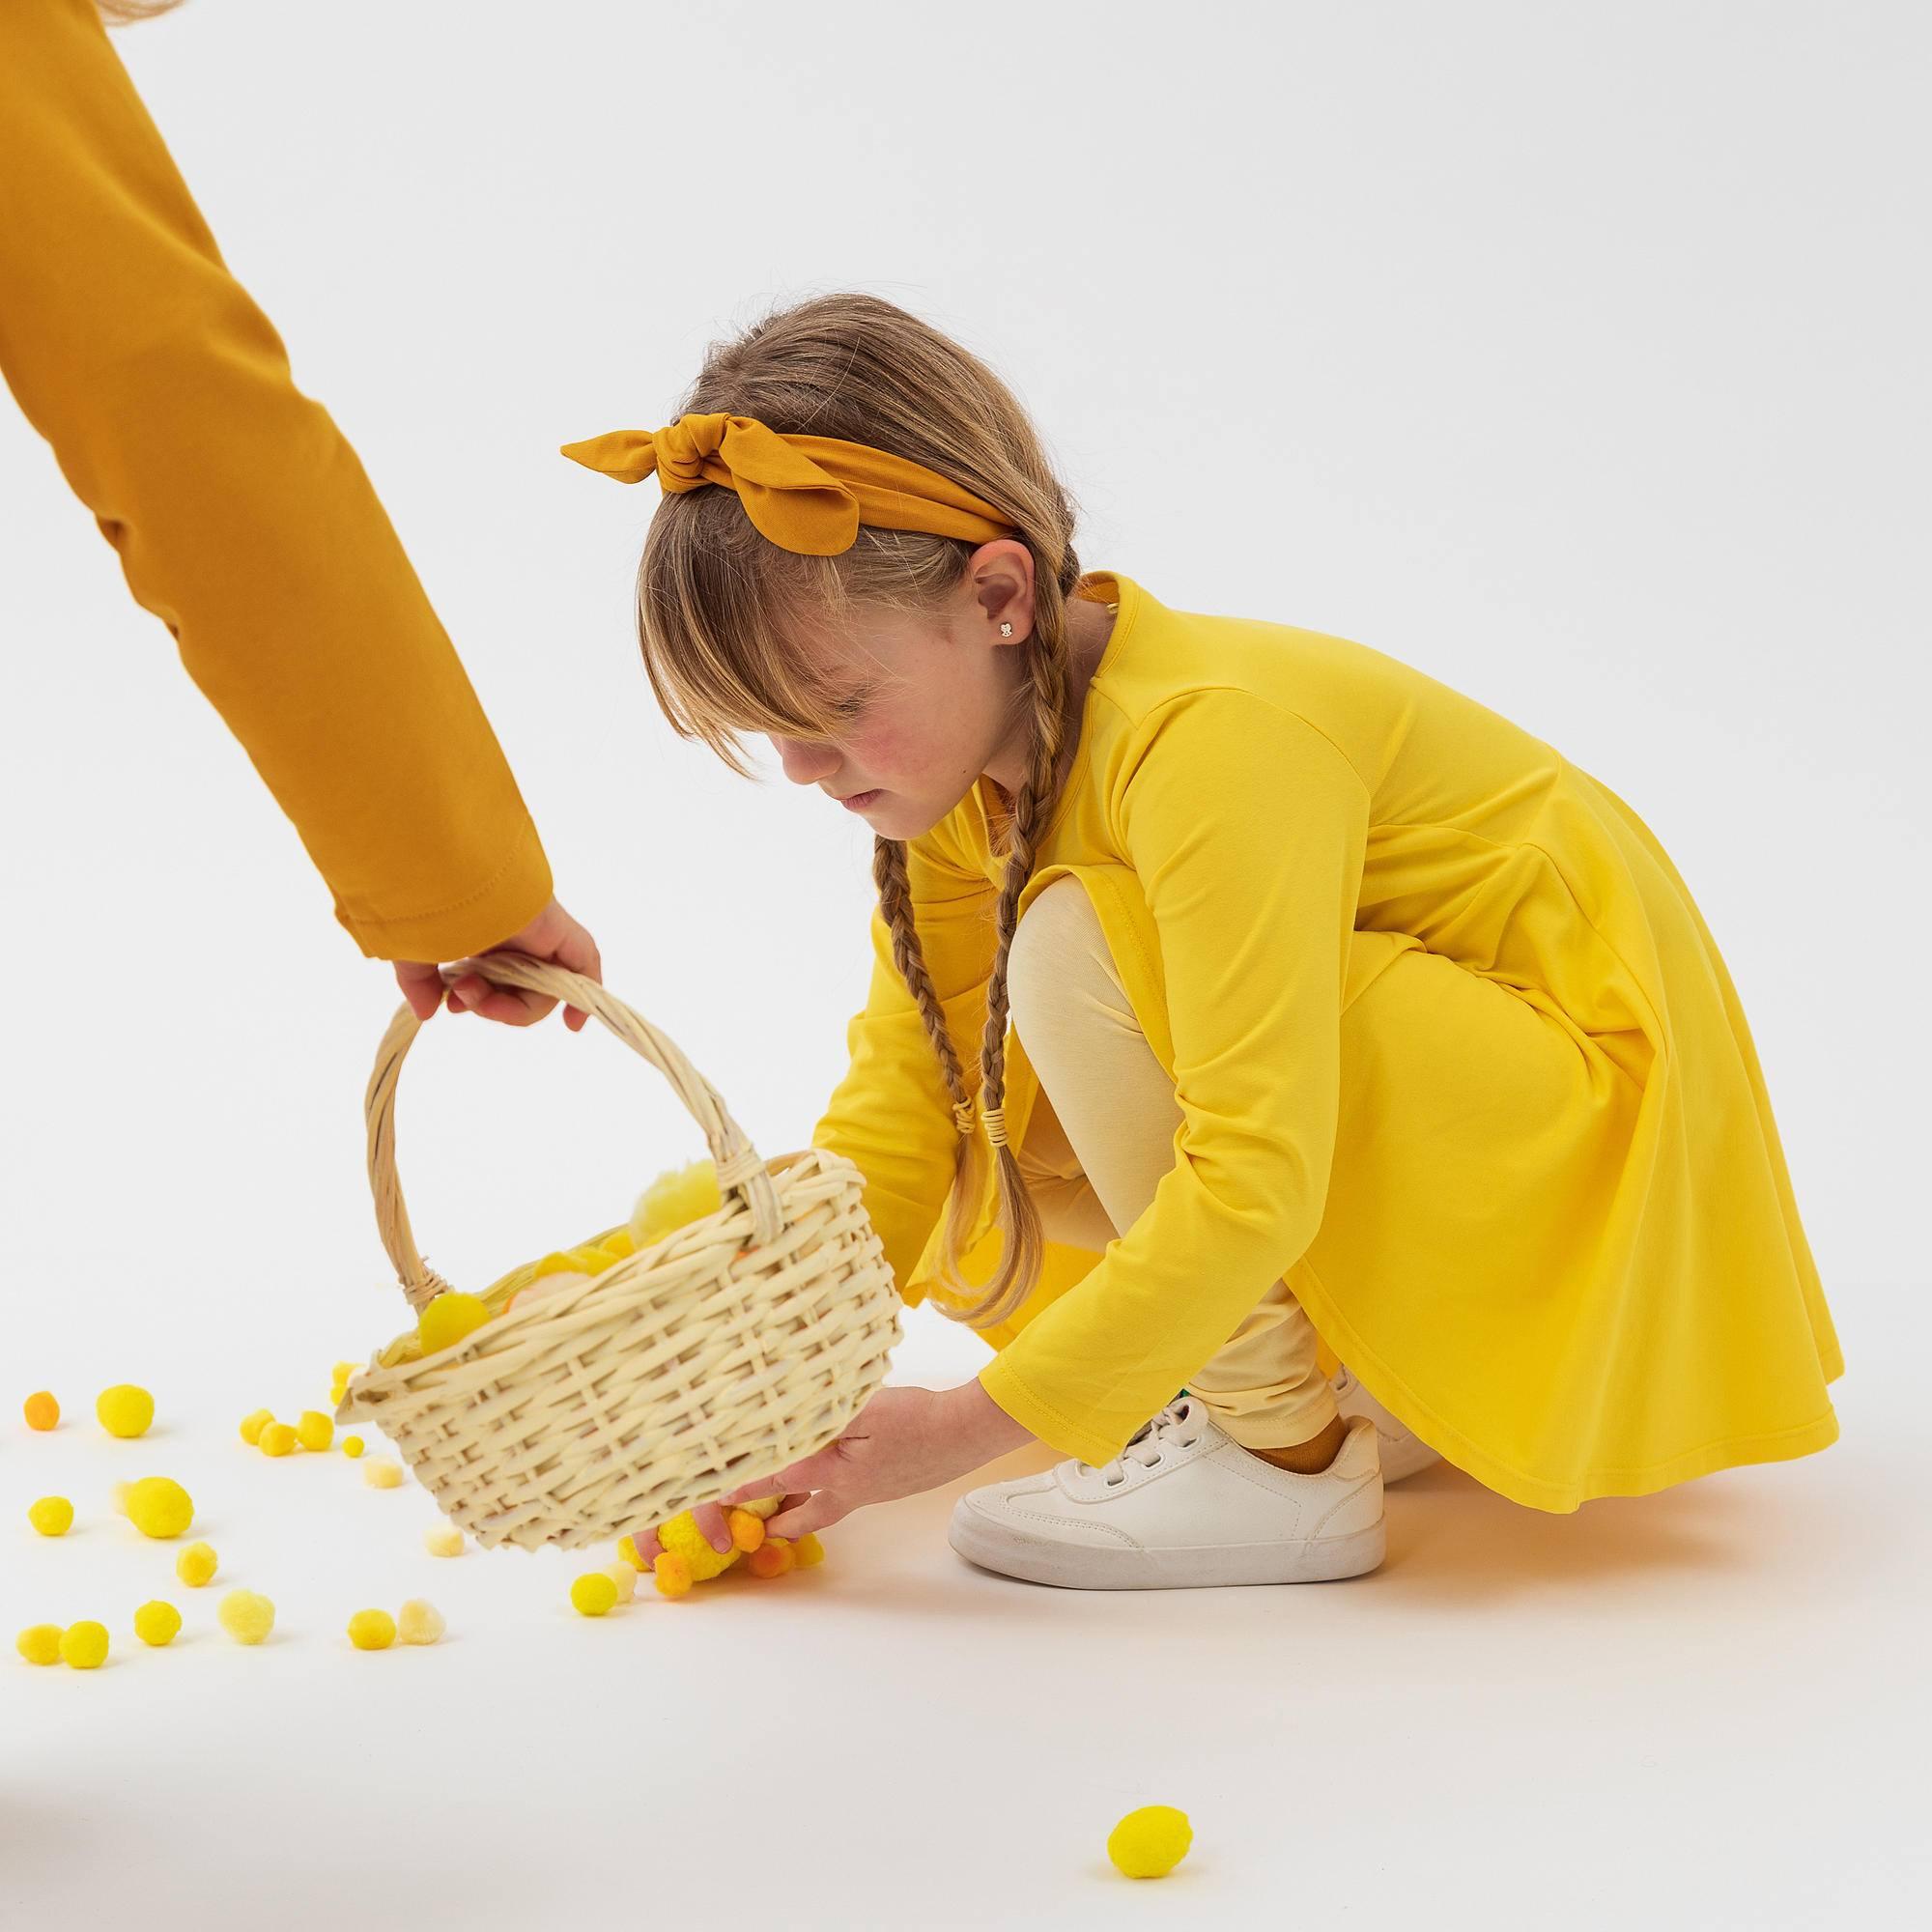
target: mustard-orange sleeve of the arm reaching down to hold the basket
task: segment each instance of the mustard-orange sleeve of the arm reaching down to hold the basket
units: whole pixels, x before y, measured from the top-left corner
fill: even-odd
[[[549,862],[456,651],[91,0],[0,4],[0,373],[361,951],[535,918]]]

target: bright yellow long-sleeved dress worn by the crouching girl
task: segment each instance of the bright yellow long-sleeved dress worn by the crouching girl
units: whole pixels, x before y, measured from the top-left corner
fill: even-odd
[[[1837,1435],[1843,1358],[1731,978],[1636,813],[1507,719],[1341,638],[1163,607],[1124,576],[1026,895],[1080,879],[1182,1124],[1101,1256],[1049,1248],[980,1379],[1088,1461],[1285,1275],[1424,1441],[1534,1509]],[[912,842],[978,1086],[999,794]],[[908,1302],[954,1126],[873,914],[850,1155]],[[1009,1034],[1007,1121],[1037,1080]],[[968,1277],[999,1252],[987,1190]]]

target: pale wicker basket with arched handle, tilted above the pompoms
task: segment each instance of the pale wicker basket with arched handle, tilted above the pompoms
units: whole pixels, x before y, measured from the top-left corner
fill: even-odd
[[[823,1150],[763,1161],[657,1028],[593,980],[520,952],[444,970],[595,1014],[676,1088],[717,1163],[717,1213],[585,1281],[504,1304],[535,1264],[483,1291],[497,1320],[402,1360],[398,1337],[336,1418],[379,1428],[483,1548],[535,1549],[653,1528],[837,1439],[885,1379],[898,1294],[860,1206],[860,1171]],[[396,1078],[419,1022],[402,1007],[369,1078],[369,1184],[410,1306],[448,1283],[417,1254],[396,1180]]]

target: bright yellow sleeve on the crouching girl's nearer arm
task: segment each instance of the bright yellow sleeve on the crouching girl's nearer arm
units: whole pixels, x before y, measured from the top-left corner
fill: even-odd
[[[1142,728],[1113,817],[1159,933],[1175,1165],[980,1374],[1088,1463],[1173,1401],[1321,1225],[1368,790],[1304,719],[1208,690]]]

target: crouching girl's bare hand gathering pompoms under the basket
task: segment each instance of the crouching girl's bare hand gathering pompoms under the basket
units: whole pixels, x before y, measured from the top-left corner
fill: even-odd
[[[771,1476],[740,1484],[715,1507],[723,1524],[723,1511],[732,1503],[782,1492],[784,1507],[765,1530],[796,1538],[823,1530],[867,1503],[937,1490],[1024,1441],[1032,1441],[1032,1434],[978,1381],[956,1389],[879,1389],[835,1443]],[[730,1542],[728,1530],[724,1540]],[[645,1540],[638,1538],[639,1551],[643,1546]]]

